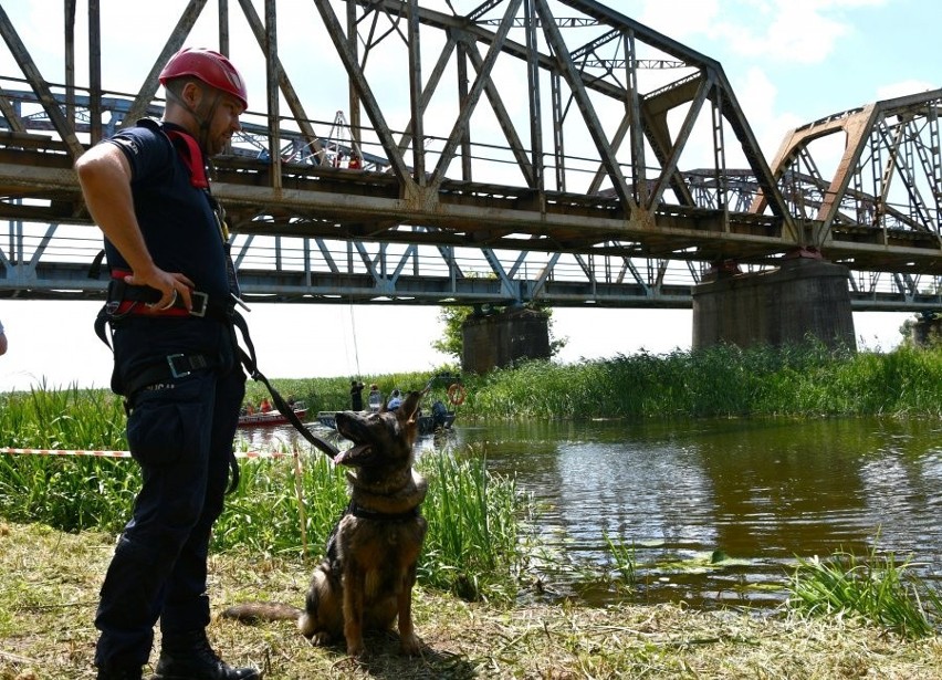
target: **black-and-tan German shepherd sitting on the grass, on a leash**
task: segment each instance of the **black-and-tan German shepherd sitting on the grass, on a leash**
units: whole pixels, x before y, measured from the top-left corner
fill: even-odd
[[[223,617],[293,619],[313,644],[328,645],[343,636],[347,653],[358,657],[364,630],[387,630],[398,616],[402,653],[418,653],[412,586],[428,529],[419,514],[428,487],[412,470],[421,396],[410,393],[393,411],[337,414],[337,431],[353,447],[334,462],[356,470],[347,472],[350,502],[311,577],[305,608],[247,603],[226,609]]]

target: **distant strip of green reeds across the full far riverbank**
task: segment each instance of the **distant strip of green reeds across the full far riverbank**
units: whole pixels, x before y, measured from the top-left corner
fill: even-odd
[[[453,367],[441,370],[457,373]],[[421,389],[423,372],[358,376],[394,388]],[[942,416],[942,347],[889,353],[799,346],[718,345],[664,355],[639,353],[561,365],[528,362],[484,376],[465,375],[462,419],[715,418]],[[349,378],[274,379],[284,397],[313,414],[349,407]],[[250,381],[247,400],[266,395]],[[426,401],[446,399],[436,386]],[[124,448],[121,400],[106,390],[14,393],[0,402],[6,446]]]

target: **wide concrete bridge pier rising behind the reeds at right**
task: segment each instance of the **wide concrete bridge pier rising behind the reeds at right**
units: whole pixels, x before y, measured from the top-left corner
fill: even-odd
[[[721,269],[693,290],[693,348],[720,343],[782,346],[808,335],[857,349],[848,269],[820,259],[786,259],[776,270]]]

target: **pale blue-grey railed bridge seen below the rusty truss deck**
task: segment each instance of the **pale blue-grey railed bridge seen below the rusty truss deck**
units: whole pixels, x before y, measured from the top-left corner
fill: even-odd
[[[11,222],[0,249],[0,296],[101,299],[106,275],[90,278],[102,248],[86,226]],[[233,253],[249,302],[506,304],[554,306],[691,305],[703,271],[692,262],[482,252],[402,243],[237,236]],[[743,268],[746,270],[747,268]],[[854,272],[855,308],[924,311],[942,306],[936,276]]]

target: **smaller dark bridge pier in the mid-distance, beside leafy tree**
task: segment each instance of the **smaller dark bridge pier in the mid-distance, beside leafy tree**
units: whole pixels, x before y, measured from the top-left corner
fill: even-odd
[[[483,374],[520,359],[550,358],[550,317],[516,307],[469,316],[461,326],[461,369]]]

